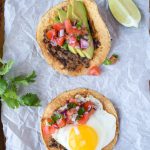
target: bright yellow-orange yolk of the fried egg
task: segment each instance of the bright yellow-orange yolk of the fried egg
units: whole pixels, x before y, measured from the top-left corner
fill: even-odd
[[[68,142],[71,150],[95,150],[98,135],[92,127],[80,125],[71,129]]]

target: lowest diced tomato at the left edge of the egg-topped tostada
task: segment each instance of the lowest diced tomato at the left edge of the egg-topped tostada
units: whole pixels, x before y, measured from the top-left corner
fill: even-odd
[[[58,126],[56,124],[53,124],[51,126],[43,126],[42,128],[44,135],[51,135],[55,133],[57,129],[58,129]]]

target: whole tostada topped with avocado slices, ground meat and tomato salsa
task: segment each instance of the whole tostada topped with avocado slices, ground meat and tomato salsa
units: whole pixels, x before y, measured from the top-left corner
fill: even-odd
[[[44,14],[36,33],[46,61],[58,72],[98,75],[110,50],[110,34],[93,0],[68,0]]]

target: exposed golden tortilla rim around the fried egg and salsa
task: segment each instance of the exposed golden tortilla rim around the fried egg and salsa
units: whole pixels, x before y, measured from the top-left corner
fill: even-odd
[[[104,97],[103,95],[101,95],[100,93],[98,93],[96,91],[84,89],[84,88],[79,88],[79,89],[64,92],[64,93],[58,95],[56,98],[54,98],[46,107],[44,114],[42,116],[42,119],[41,119],[41,135],[42,135],[44,144],[46,145],[47,149],[50,150],[47,146],[48,145],[48,139],[44,139],[44,136],[42,133],[42,124],[43,124],[44,119],[50,118],[56,109],[58,109],[61,106],[64,106],[67,103],[67,100],[69,98],[74,97],[77,94],[93,95],[95,98],[97,98],[102,103],[105,111],[107,111],[108,113],[110,113],[116,117],[116,134],[115,134],[115,137],[110,144],[108,144],[105,148],[103,148],[103,150],[112,150],[113,147],[115,146],[116,142],[117,142],[117,138],[118,138],[118,134],[119,134],[119,120],[118,120],[117,112],[116,112],[113,104],[106,97]],[[49,140],[51,140],[51,138],[52,137],[50,136]],[[51,148],[51,150],[52,150],[52,148]],[[54,150],[59,150],[59,149],[55,148]]]

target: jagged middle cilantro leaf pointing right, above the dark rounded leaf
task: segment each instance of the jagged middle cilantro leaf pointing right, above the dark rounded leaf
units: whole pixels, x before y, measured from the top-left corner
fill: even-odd
[[[14,79],[12,79],[12,83],[22,84],[22,85],[27,86],[30,83],[35,82],[35,78],[36,78],[36,73],[35,73],[35,71],[33,71],[29,75],[21,75],[21,76],[15,77]]]

